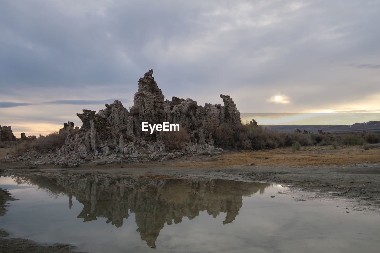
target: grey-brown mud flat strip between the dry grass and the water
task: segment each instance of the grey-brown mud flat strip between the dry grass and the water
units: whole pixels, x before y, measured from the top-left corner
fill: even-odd
[[[207,161],[212,158],[198,158]],[[196,161],[195,161],[196,162]],[[249,182],[270,182],[303,190],[309,198],[350,199],[352,209],[380,211],[380,164],[349,164],[330,166],[228,166],[223,168],[177,167],[177,161],[125,164],[82,164],[79,168],[58,166],[25,166],[0,162],[7,173],[78,173],[129,175],[150,178],[188,179],[207,177]],[[17,169],[16,169],[17,168]]]

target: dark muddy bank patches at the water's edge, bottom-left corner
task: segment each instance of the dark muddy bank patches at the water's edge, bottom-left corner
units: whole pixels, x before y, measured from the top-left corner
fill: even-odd
[[[0,173],[1,174],[1,173]],[[7,201],[17,200],[11,196],[11,194],[0,188],[0,216],[5,215]],[[4,237],[9,234],[0,228],[0,252],[4,253],[50,253],[50,252],[59,252],[59,253],[70,253],[75,247],[71,247],[65,244],[54,244],[54,245],[40,245],[32,240],[11,238],[5,239]]]

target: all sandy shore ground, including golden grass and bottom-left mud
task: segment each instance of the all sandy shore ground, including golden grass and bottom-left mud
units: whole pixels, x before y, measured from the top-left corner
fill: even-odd
[[[305,199],[348,199],[348,208],[352,210],[380,211],[380,148],[377,146],[372,146],[367,151],[361,146],[338,147],[337,150],[326,146],[310,147],[296,152],[277,149],[185,159],[124,164],[124,168],[120,168],[118,163],[82,164],[79,168],[60,168],[53,165],[29,166],[0,161],[0,173],[1,170],[8,173],[38,171],[149,178],[208,177],[269,182],[288,186],[292,191],[303,191]],[[257,165],[242,165],[249,161]],[[3,209],[10,196],[3,190],[0,194],[0,209]],[[0,215],[4,213],[4,210],[0,210]],[[72,249],[68,245],[43,247],[30,240],[3,239],[4,236],[6,233],[1,231],[0,252],[71,252]]]

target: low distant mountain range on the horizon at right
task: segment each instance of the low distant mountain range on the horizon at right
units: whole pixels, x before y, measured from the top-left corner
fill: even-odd
[[[297,128],[302,132],[318,133],[322,130],[325,133],[348,133],[359,131],[380,131],[380,121],[369,121],[365,123],[355,123],[353,125],[269,125],[264,126],[279,132],[294,133]]]

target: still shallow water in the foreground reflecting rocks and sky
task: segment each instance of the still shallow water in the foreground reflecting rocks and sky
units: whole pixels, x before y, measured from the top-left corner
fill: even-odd
[[[88,252],[376,252],[380,214],[280,185],[101,174],[0,177],[10,237]],[[283,194],[281,194],[283,193]],[[271,198],[275,196],[275,198]]]

